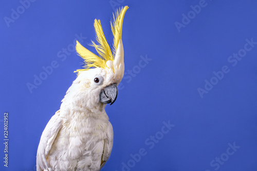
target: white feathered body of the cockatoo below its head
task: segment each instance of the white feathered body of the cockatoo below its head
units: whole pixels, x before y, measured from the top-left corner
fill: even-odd
[[[80,98],[77,89],[80,78],[68,89],[60,110],[42,134],[48,141],[53,140],[52,144],[51,141],[40,144],[49,150],[46,161],[53,170],[100,170],[112,151],[113,127],[104,110],[106,104],[92,105],[85,99],[94,98]],[[38,160],[39,164],[43,161],[40,156]]]

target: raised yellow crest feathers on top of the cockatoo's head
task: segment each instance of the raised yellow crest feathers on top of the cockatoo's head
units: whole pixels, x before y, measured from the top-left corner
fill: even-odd
[[[99,45],[92,41],[91,46],[95,47],[99,56],[84,48],[77,41],[76,51],[78,52],[79,56],[81,56],[84,59],[85,69],[79,69],[75,72],[85,71],[97,67],[105,68],[106,62],[108,60],[114,61],[114,56],[119,45],[119,40],[121,39],[123,18],[127,9],[128,7],[125,6],[124,8],[122,8],[121,10],[117,10],[116,13],[113,14],[114,19],[113,22],[111,22],[111,28],[114,35],[114,43],[112,48],[113,52],[111,51],[111,48],[109,47],[107,40],[104,36],[100,20],[95,19],[94,27],[96,31],[96,40],[99,43]]]

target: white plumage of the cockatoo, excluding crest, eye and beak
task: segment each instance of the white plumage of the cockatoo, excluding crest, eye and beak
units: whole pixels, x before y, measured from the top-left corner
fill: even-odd
[[[94,84],[94,77],[104,78]],[[82,71],[68,89],[60,110],[50,119],[41,136],[37,170],[98,171],[111,155],[113,127],[100,91],[113,83],[112,69]],[[101,162],[102,165],[101,165]]]

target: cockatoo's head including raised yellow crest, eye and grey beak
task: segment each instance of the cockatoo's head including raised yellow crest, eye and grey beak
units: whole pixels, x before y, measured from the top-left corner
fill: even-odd
[[[78,41],[76,50],[85,61],[85,69],[80,69],[75,80],[80,97],[86,98],[86,106],[113,104],[117,98],[117,86],[124,74],[124,52],[121,40],[122,23],[127,6],[116,12],[112,25],[114,35],[113,49],[109,48],[103,34],[100,20],[95,19],[96,39],[91,46],[96,48],[99,56],[84,48]]]

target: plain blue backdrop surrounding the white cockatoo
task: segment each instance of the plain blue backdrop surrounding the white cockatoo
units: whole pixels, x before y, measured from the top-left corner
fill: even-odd
[[[0,137],[9,112],[9,166],[3,166],[1,143],[0,170],[35,170],[41,134],[76,79],[74,71],[82,68],[72,49],[76,34],[96,52],[87,44],[95,39],[98,18],[112,44],[109,20],[125,5],[130,7],[122,34],[126,73],[116,102],[106,106],[114,146],[102,170],[257,170],[257,45],[248,45],[251,50],[235,66],[228,61],[244,52],[246,39],[257,41],[257,2],[206,0],[198,14],[190,12],[199,3],[34,1],[25,9],[17,0],[2,1]],[[13,14],[6,22],[17,8],[19,18]],[[178,29],[182,14],[190,15],[190,23],[184,18]],[[58,67],[42,75],[52,61]],[[229,72],[213,78],[223,66]],[[27,84],[40,74],[45,80],[30,92]],[[201,97],[197,89],[205,89],[205,80],[215,85]],[[163,122],[173,124],[169,132],[163,128],[166,134]],[[234,151],[229,143],[237,146]],[[131,154],[140,150],[144,156],[135,161]]]

